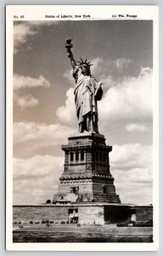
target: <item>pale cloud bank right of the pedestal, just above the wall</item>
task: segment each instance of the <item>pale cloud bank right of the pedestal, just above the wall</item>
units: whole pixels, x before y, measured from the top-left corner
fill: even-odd
[[[123,203],[149,204],[153,194],[152,145],[114,145],[110,172]]]

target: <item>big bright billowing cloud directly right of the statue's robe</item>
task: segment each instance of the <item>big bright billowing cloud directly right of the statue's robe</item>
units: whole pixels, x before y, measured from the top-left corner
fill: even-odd
[[[152,108],[152,70],[149,68],[142,68],[138,78],[124,78],[111,87],[98,104],[102,122],[149,120]]]

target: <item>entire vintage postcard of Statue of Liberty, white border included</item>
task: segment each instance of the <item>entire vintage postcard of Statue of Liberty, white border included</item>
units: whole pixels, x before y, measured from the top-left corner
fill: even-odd
[[[157,19],[7,7],[8,250],[157,249]]]

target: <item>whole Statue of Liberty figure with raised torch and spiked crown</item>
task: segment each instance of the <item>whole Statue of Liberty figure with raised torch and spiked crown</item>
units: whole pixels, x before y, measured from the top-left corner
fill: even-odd
[[[103,95],[101,88],[102,83],[97,82],[91,74],[91,66],[93,64],[85,61],[77,61],[76,64],[72,54],[71,40],[66,41],[65,47],[70,58],[70,63],[73,68],[73,77],[76,81],[74,89],[76,115],[79,124],[79,132],[90,131],[98,133],[98,104]]]

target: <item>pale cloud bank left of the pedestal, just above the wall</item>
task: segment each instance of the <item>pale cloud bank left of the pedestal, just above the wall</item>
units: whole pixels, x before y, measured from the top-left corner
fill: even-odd
[[[52,200],[63,171],[62,157],[35,155],[28,159],[14,158],[14,204]]]

